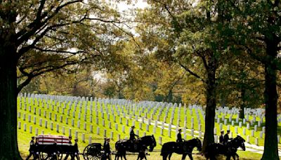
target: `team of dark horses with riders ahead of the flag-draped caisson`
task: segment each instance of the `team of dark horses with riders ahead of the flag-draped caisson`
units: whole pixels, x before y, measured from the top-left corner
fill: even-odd
[[[154,135],[144,136],[143,138],[138,138],[138,140],[136,140],[135,136],[138,137],[138,135],[133,133],[133,129],[134,126],[131,127],[129,140],[119,140],[115,143],[115,149],[117,151],[115,160],[118,160],[119,158],[124,158],[126,160],[126,152],[138,152],[138,159],[146,159],[145,150],[149,147],[149,152],[152,152],[154,147],[156,147]],[[230,140],[228,136],[225,139]],[[223,143],[211,143],[207,146],[204,156],[207,159],[215,160],[218,154],[223,154],[227,157],[227,160],[230,160],[231,156],[233,159],[236,157],[239,159],[239,156],[236,152],[239,147],[245,150],[244,142],[245,140],[240,137],[240,135],[237,135],[236,138],[231,139],[230,141],[224,141]],[[186,156],[189,156],[190,159],[193,159],[192,150],[195,147],[197,147],[197,149],[201,152],[201,140],[194,138],[192,140],[185,141],[181,138],[181,129],[179,129],[176,142],[164,143],[162,145],[160,155],[163,157],[163,160],[166,160],[167,158],[170,160],[173,153],[183,154],[181,158],[182,160],[185,159]]]

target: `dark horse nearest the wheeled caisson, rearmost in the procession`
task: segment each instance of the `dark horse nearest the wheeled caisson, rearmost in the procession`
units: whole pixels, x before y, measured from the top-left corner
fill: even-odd
[[[115,155],[115,160],[119,159],[119,157],[124,157],[126,160],[126,152],[143,152],[143,149],[147,149],[149,146],[149,152],[152,152],[154,147],[156,146],[156,140],[154,135],[144,136],[136,142],[131,142],[131,140],[119,140],[115,143],[115,149],[117,151]]]

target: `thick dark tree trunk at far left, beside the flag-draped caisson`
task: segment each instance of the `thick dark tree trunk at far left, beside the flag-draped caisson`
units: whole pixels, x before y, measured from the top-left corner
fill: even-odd
[[[4,3],[4,2],[3,2]],[[1,12],[4,26],[0,29],[0,159],[22,159],[18,152],[17,134],[17,47],[13,4]],[[15,2],[14,2],[15,3]],[[7,25],[8,24],[8,25]]]

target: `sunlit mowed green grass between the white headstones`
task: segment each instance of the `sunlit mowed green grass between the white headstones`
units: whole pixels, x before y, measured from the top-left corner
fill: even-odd
[[[25,99],[25,101],[27,101],[27,98]],[[119,117],[123,116],[121,110],[120,110],[120,115],[118,116],[117,110],[115,109],[115,106],[112,106],[112,108],[114,109],[114,112],[112,113],[111,112],[111,105],[105,106],[104,104],[103,104],[104,119],[102,119],[102,116],[101,116],[102,112],[100,112],[100,109],[99,109],[99,105],[101,105],[101,104],[97,103],[98,112],[95,112],[94,111],[95,105],[96,105],[95,102],[93,102],[93,107],[92,107],[93,113],[90,115],[90,110],[89,110],[89,107],[88,107],[87,113],[86,113],[86,121],[84,121],[84,114],[85,114],[84,107],[86,105],[89,106],[90,101],[88,101],[88,102],[79,101],[78,104],[77,104],[76,111],[74,111],[74,103],[73,103],[72,109],[70,110],[70,115],[67,115],[67,109],[70,108],[70,106],[69,106],[70,104],[69,103],[65,104],[65,102],[61,102],[60,105],[59,105],[58,102],[55,103],[51,100],[48,100],[48,102],[46,102],[46,103],[53,104],[54,107],[52,109],[51,105],[49,107],[44,106],[44,102],[42,101],[42,102],[39,103],[39,107],[37,107],[36,113],[34,113],[34,107],[35,107],[34,104],[37,104],[37,100],[35,100],[34,104],[31,104],[31,102],[29,102],[30,109],[27,105],[26,110],[25,110],[24,104],[22,104],[22,107],[20,109],[19,103],[20,103],[20,99],[18,98],[18,112],[20,112],[20,117],[18,118],[18,121],[20,121],[20,123],[21,123],[21,128],[18,129],[18,145],[19,145],[19,149],[20,149],[20,152],[22,153],[22,155],[28,154],[30,138],[31,138],[32,135],[35,135],[35,128],[38,128],[39,135],[42,133],[42,131],[44,131],[44,134],[63,135],[63,131],[62,131],[63,126],[65,126],[65,135],[66,136],[69,135],[69,128],[71,128],[71,130],[72,130],[72,136],[74,136],[74,132],[77,131],[78,138],[79,138],[80,152],[83,152],[83,149],[86,147],[86,145],[89,144],[89,137],[90,136],[91,136],[91,142],[103,143],[104,130],[106,129],[107,130],[107,134],[106,134],[107,137],[110,137],[110,132],[113,132],[113,139],[111,140],[110,145],[111,145],[112,149],[114,150],[114,144],[117,141],[117,135],[119,134],[121,139],[129,138],[129,128],[132,125],[133,121],[135,121],[134,117],[132,117],[132,119],[129,119],[128,118],[129,115],[126,114],[126,117],[122,118],[122,124],[120,124]],[[80,106],[80,104],[81,104],[81,119],[79,119],[79,106]],[[66,106],[66,109],[65,109],[65,113],[63,114],[63,106],[64,105]],[[39,108],[41,108],[41,116],[39,116]],[[110,113],[108,115],[105,114],[106,108],[108,108],[109,113]],[[176,119],[178,119],[178,109],[179,108],[176,107],[173,124],[177,123]],[[182,121],[180,121],[180,126],[184,126],[183,119],[184,119],[185,115],[183,114],[183,107],[181,107],[180,109],[181,109],[181,113],[182,113],[182,114],[179,115],[179,116],[181,116],[181,119],[182,119]],[[165,110],[166,110],[166,108],[162,112],[162,115],[160,115],[159,121],[163,121],[164,114],[166,112]],[[46,112],[46,117],[44,117],[44,112]],[[51,119],[49,118],[49,112],[51,112],[51,115],[52,115]],[[75,115],[74,117],[72,116],[73,112],[74,112],[74,115]],[[127,112],[128,112],[128,110],[124,109],[124,113],[127,113]],[[131,112],[131,111],[129,111],[129,112]],[[141,116],[145,116],[145,112],[147,112],[147,109],[145,109],[144,112],[141,112]],[[189,126],[191,125],[190,119],[191,119],[192,116],[190,116],[190,113],[188,113],[188,112],[189,112],[189,110],[187,109],[187,114],[188,114],[187,127],[189,128]],[[198,111],[198,112],[200,112],[200,111]],[[23,120],[23,114],[25,114],[25,121]],[[57,114],[57,121],[55,121],[55,114]],[[136,111],[136,114],[138,114],[138,111]],[[154,119],[157,119],[158,114],[159,114],[159,110],[157,110],[157,112],[154,115],[148,114],[148,118],[152,118],[152,116],[153,116]],[[30,122],[28,121],[29,115],[31,116]],[[113,121],[114,115],[116,116],[116,122]],[[195,121],[194,128],[195,128],[195,130],[197,130],[198,126],[197,126],[197,117],[195,116],[196,115],[195,109],[192,110],[192,115],[194,116],[194,121]],[[34,124],[34,116],[36,116],[36,124]],[[60,122],[60,116],[63,117],[62,122]],[[93,119],[92,123],[90,122],[90,116],[92,116],[92,119]],[[109,121],[107,120],[107,116],[110,116]],[[96,117],[98,117],[98,125],[96,124]],[[140,115],[138,115],[138,117],[140,117]],[[226,118],[227,117],[228,117],[228,115],[226,115]],[[65,124],[66,118],[68,118],[68,124]],[[169,109],[168,116],[166,118],[167,123],[169,123],[170,118],[171,118],[171,108]],[[42,126],[39,126],[39,119],[42,119]],[[74,126],[72,126],[72,119],[74,120]],[[129,120],[128,125],[126,125],[126,119]],[[200,119],[201,119],[201,122],[202,122],[202,131],[204,131],[204,119],[203,119],[201,113],[200,113]],[[235,116],[233,116],[233,119],[235,119]],[[105,121],[105,126],[102,125],[103,120]],[[48,127],[47,128],[44,127],[45,121],[48,121]],[[51,121],[53,121],[53,130],[51,130]],[[78,121],[80,121],[80,127],[79,128],[77,126]],[[108,128],[109,122],[111,122],[112,128]],[[84,130],[84,123],[86,124],[86,130]],[[24,124],[27,124],[27,131],[23,131],[23,125]],[[55,127],[56,127],[57,124],[59,125],[59,131],[58,132],[55,131],[56,130]],[[115,130],[115,124],[118,124],[118,130]],[[90,125],[93,125],[93,132],[92,133],[90,132]],[[237,125],[237,124],[235,124],[235,125]],[[32,126],[32,133],[30,133],[30,126]],[[122,132],[122,126],[124,126],[124,132]],[[162,144],[164,142],[176,140],[176,132],[174,132],[174,131],[171,132],[171,138],[169,138],[167,130],[164,130],[164,134],[161,135],[160,134],[160,128],[157,128],[155,133],[153,133],[153,126],[152,125],[149,126],[149,131],[145,130],[145,128],[146,128],[145,124],[143,124],[142,129],[139,128],[139,122],[138,121],[135,121],[135,126],[136,126],[135,133],[136,133],[136,130],[138,130],[140,136],[143,136],[144,132],[146,133],[146,135],[152,135],[152,134],[155,135],[155,139],[157,140],[157,147],[155,149],[159,150],[162,147],[161,145],[158,144],[160,136],[162,137]],[[98,127],[100,128],[100,134],[99,135],[97,134],[97,128]],[[219,130],[218,124],[216,124],[216,127],[217,127],[217,131],[218,131]],[[226,129],[226,127],[227,126],[223,126],[223,128],[225,128],[225,129]],[[231,129],[234,133],[234,126],[231,126],[231,127],[232,127]],[[243,126],[243,127],[245,127],[245,126]],[[280,128],[280,126],[278,126],[278,127]],[[242,135],[242,128],[239,128],[238,132],[240,132],[240,135]],[[81,140],[81,137],[82,137],[83,133],[84,133],[84,137],[85,137],[84,142]],[[233,134],[233,135],[235,135],[235,134]],[[257,135],[259,136],[259,134],[257,134]],[[244,136],[244,138],[246,138],[246,136]],[[190,139],[192,139],[192,137],[190,135],[187,135],[187,139],[190,140]],[[254,140],[250,139],[250,142],[254,143]],[[259,140],[259,143],[261,143],[261,145],[262,145],[263,139]],[[241,152],[241,154],[244,155],[245,157],[250,157],[250,158],[252,156],[252,154],[250,152],[249,153],[248,152]],[[258,155],[261,156],[261,154],[258,154]],[[152,153],[151,157],[153,157],[153,156],[158,157],[159,154],[157,154],[157,152]],[[161,159],[161,158],[158,157],[157,159]],[[259,158],[257,158],[257,159],[259,159]]]

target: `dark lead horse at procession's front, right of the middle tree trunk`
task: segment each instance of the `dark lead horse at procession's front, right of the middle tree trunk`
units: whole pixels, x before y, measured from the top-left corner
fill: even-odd
[[[216,155],[223,154],[227,158],[227,160],[230,160],[230,157],[232,156],[233,159],[235,159],[235,156],[237,156],[237,159],[239,159],[237,152],[237,148],[241,147],[243,151],[246,149],[244,145],[245,140],[237,135],[236,138],[228,142],[226,145],[220,144],[220,143],[212,143],[207,146],[205,156],[207,159],[214,160],[216,159]]]

